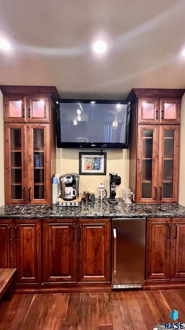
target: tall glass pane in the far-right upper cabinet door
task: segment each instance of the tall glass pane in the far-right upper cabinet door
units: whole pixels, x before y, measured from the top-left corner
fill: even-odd
[[[173,197],[174,130],[164,131],[163,198]]]

